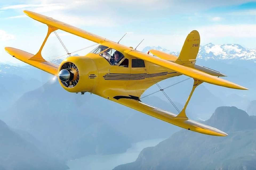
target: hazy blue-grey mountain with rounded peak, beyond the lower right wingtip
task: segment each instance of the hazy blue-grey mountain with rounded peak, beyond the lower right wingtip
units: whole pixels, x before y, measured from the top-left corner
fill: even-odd
[[[216,137],[182,129],[157,146],[143,149],[135,162],[119,165],[114,170],[255,169],[255,117],[236,107],[219,107],[204,123],[216,128],[223,124],[221,130],[228,130],[229,136]]]

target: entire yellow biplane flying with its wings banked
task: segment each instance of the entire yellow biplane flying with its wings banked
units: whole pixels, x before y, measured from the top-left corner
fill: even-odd
[[[197,31],[187,36],[179,57],[157,50],[154,55],[139,52],[93,33],[53,18],[24,11],[29,17],[48,26],[48,33],[37,54],[6,47],[11,56],[58,77],[61,86],[69,92],[90,92],[108,100],[115,101],[137,111],[146,113],[181,128],[195,132],[227,136],[221,130],[190,120],[186,116],[186,107],[195,90],[202,82],[218,86],[248,90],[235,83],[218,78],[225,76],[215,70],[195,65],[200,45]],[[70,56],[60,66],[50,63],[41,55],[41,51],[50,33],[61,29],[79,37],[98,43],[97,48],[85,56]],[[161,80],[186,75],[194,79],[193,88],[182,111],[176,115],[160,108],[145,104],[140,100],[143,92]]]

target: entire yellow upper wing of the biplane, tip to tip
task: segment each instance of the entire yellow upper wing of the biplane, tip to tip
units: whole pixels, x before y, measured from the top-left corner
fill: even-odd
[[[84,31],[83,29],[74,27],[72,25],[60,22],[60,21],[55,20],[53,18],[47,17],[45,15],[37,14],[37,13],[31,12],[31,11],[24,11],[24,12],[25,12],[25,14],[27,14],[31,18],[33,18],[33,19],[35,19],[39,22],[45,23],[49,27],[55,27],[55,28],[61,29],[63,31],[66,31],[66,32],[72,33],[74,35],[83,37],[83,38],[88,39],[90,41],[94,41],[95,43],[100,43],[101,41],[104,41],[104,40],[109,41],[109,42],[107,42],[109,45],[113,45],[115,47],[120,47],[121,49],[125,50],[126,54],[129,54],[131,56],[140,58],[142,60],[154,63],[156,65],[165,67],[167,69],[176,71],[180,74],[187,75],[187,76],[192,77],[194,79],[201,80],[203,82],[207,82],[207,83],[211,83],[211,84],[215,84],[215,85],[218,85],[218,86],[248,90],[245,87],[242,87],[242,86],[239,86],[235,83],[229,82],[227,80],[223,80],[223,79],[214,77],[212,75],[203,73],[202,71],[199,71],[199,70],[196,70],[196,69],[193,69],[193,68],[190,68],[190,67],[182,66],[182,65],[179,65],[177,63],[170,62],[170,61],[166,61],[166,60],[163,60],[163,59],[158,58],[158,57],[153,57],[153,56],[150,56],[148,54],[145,54],[145,53],[142,53],[142,52],[139,52],[139,51],[136,51],[136,50],[135,51],[131,50],[131,49],[126,48],[125,46],[123,46],[121,44],[117,44],[113,41],[106,40],[103,37],[100,37],[100,36],[97,36],[93,33]]]

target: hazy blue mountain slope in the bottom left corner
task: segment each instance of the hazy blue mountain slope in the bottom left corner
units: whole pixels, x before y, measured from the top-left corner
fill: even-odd
[[[35,143],[0,120],[0,169],[69,169],[64,161],[55,158],[48,150],[41,150]]]

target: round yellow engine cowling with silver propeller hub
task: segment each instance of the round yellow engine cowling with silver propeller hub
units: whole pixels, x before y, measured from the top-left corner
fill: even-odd
[[[94,61],[86,56],[66,58],[58,70],[59,83],[69,92],[91,92],[97,75],[98,70]]]

